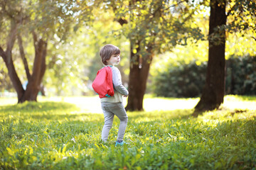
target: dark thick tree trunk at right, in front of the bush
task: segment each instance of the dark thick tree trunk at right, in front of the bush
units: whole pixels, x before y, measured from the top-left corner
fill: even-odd
[[[223,1],[210,1],[209,23],[209,51],[206,84],[202,96],[195,109],[198,111],[210,111],[218,108],[223,103],[225,94],[225,30],[218,30],[218,42],[213,35],[219,26],[225,26],[225,4]],[[221,4],[221,5],[219,5]]]

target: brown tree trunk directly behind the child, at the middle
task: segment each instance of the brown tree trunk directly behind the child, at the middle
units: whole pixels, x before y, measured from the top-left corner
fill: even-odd
[[[152,60],[151,53],[138,56],[132,52],[129,73],[129,97],[127,111],[143,111],[143,98],[146,91],[146,81],[149,75],[149,67]],[[139,51],[139,48],[137,48]]]

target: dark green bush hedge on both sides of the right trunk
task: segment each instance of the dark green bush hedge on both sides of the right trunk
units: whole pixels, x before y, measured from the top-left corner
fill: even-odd
[[[256,95],[256,57],[231,57],[227,60],[226,94]],[[206,81],[207,63],[196,62],[168,66],[167,72],[159,72],[153,80],[156,96],[200,96]]]

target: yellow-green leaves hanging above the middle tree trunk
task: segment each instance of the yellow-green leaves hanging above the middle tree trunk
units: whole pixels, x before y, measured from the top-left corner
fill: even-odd
[[[117,33],[130,40],[131,52],[137,57],[145,57],[149,53],[169,51],[175,45],[186,45],[188,38],[202,39],[198,26],[188,23],[199,4],[189,1],[108,0],[102,8],[114,11],[115,20],[122,25]],[[131,62],[138,64],[135,58]]]

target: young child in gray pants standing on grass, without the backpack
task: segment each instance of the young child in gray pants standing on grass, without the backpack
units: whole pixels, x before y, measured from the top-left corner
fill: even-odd
[[[102,129],[102,140],[104,142],[107,142],[110,129],[112,128],[114,115],[117,115],[120,120],[120,124],[117,134],[116,146],[122,146],[124,144],[124,132],[128,122],[127,113],[122,103],[122,96],[127,97],[129,92],[122,85],[122,78],[119,69],[117,69],[117,67],[114,67],[115,64],[119,64],[120,62],[120,53],[121,52],[119,48],[114,45],[105,45],[100,50],[100,57],[102,59],[102,63],[105,66],[109,65],[112,67],[112,79],[114,85],[114,96],[100,98],[102,111],[105,118],[105,124]]]

